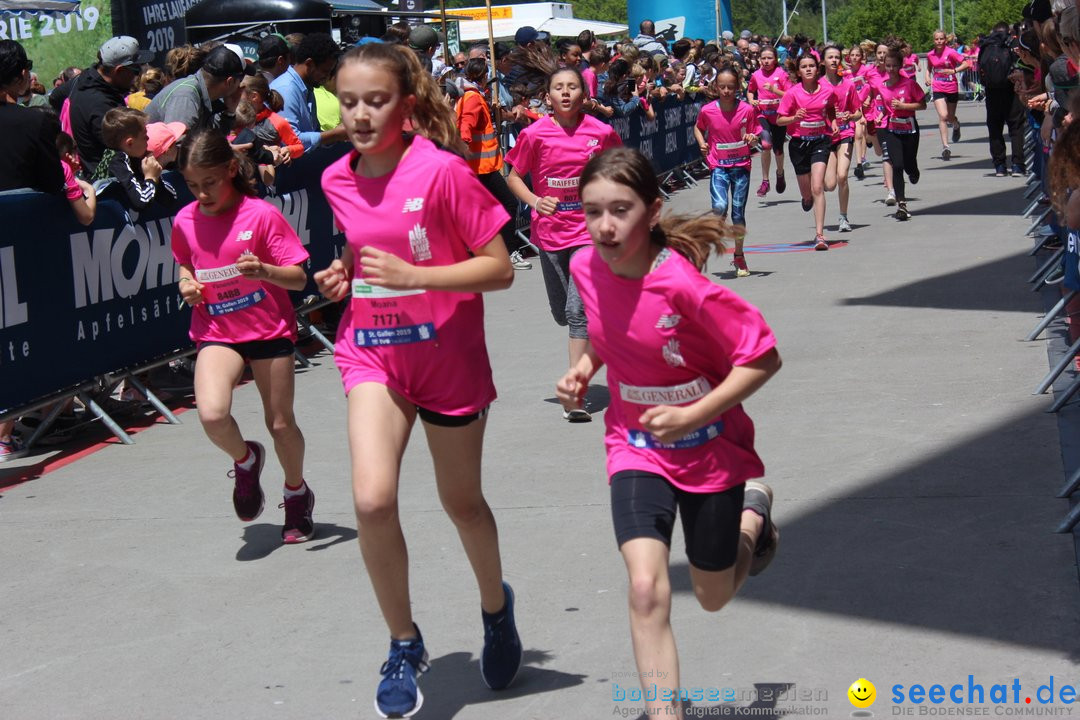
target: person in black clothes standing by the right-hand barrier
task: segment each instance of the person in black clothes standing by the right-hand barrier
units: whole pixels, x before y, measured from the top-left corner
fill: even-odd
[[[1015,63],[1009,26],[998,23],[978,46],[978,80],[986,93],[986,128],[990,161],[998,177],[1007,174],[1004,127],[1012,141],[1012,163],[1024,167],[1024,106],[1009,80]]]

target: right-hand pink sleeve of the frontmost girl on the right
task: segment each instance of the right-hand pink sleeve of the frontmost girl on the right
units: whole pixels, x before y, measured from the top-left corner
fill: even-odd
[[[698,318],[732,365],[746,365],[777,347],[761,312],[726,287],[705,281]]]

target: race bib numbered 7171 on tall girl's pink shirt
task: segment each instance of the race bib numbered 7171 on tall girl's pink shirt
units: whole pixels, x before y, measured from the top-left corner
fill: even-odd
[[[391,290],[363,280],[352,281],[352,328],[361,348],[435,339],[427,290]]]

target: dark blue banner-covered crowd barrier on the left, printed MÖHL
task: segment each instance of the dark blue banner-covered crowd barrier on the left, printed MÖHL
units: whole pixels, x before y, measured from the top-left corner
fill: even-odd
[[[699,109],[672,99],[652,121],[635,112],[610,122],[624,145],[639,148],[658,173],[671,174],[700,161],[693,140]],[[310,254],[309,279],[345,244],[320,178],[347,150],[345,144],[319,148],[279,167],[267,198]],[[183,178],[166,177],[181,203],[191,202]],[[8,227],[0,240],[0,419],[191,351],[190,315],[171,249],[173,215],[125,212],[103,201],[94,223],[82,227],[63,198],[11,191],[0,192],[0,216]],[[519,227],[527,228],[527,217]],[[309,280],[294,299],[310,310],[316,296]]]

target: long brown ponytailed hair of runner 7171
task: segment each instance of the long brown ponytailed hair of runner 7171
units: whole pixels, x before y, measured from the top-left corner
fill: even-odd
[[[390,43],[369,42],[352,47],[341,56],[338,67],[351,63],[369,63],[384,68],[397,79],[402,95],[415,95],[413,124],[416,131],[436,145],[464,154],[465,148],[454,120],[454,112],[443,100],[443,94],[420,60],[408,47]]]

